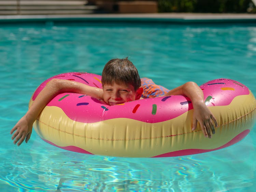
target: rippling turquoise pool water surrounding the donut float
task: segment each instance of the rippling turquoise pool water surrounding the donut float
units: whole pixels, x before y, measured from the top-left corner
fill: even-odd
[[[101,74],[108,60],[127,56],[141,77],[169,89],[231,78],[256,95],[253,25],[1,25],[1,191],[254,191],[256,126],[236,145],[172,158],[80,154],[35,132],[28,144],[12,144],[10,130],[43,80],[70,71]]]

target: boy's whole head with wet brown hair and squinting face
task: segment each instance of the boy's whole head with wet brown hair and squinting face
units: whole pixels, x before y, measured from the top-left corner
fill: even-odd
[[[138,70],[128,58],[106,63],[101,82],[104,101],[109,105],[138,100],[143,92]]]

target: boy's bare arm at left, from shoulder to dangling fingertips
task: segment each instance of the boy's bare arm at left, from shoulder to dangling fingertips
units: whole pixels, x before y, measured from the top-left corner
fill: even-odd
[[[82,83],[73,82],[63,79],[52,79],[43,90],[38,94],[33,104],[30,106],[27,113],[16,123],[12,128],[11,134],[13,143],[19,146],[26,139],[28,142],[32,133],[32,125],[37,119],[43,108],[51,101],[56,95],[62,92],[74,92],[87,94],[94,98],[103,99],[103,90],[96,87],[91,87]]]

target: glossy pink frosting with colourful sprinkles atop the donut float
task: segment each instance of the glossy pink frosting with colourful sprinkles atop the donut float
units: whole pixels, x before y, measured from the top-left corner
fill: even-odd
[[[53,78],[75,80],[93,87],[101,86],[101,76],[91,73],[63,73],[47,79],[35,91],[34,100],[47,82]],[[229,105],[238,95],[249,94],[249,89],[231,79],[215,79],[202,86],[208,106]],[[61,93],[47,106],[60,107],[72,120],[93,123],[114,118],[129,118],[148,123],[166,121],[178,117],[193,105],[189,98],[182,95],[136,100],[122,105],[109,106],[103,101],[77,93]]]

